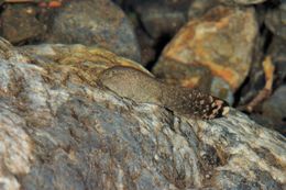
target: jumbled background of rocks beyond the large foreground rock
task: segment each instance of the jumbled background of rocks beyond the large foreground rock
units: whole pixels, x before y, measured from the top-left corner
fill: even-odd
[[[1,35],[14,45],[103,47],[285,135],[283,0],[2,0],[1,7]]]

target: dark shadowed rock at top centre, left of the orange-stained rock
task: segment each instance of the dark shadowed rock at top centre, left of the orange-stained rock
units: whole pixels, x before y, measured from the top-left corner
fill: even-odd
[[[187,21],[188,0],[134,1],[144,29],[153,38],[173,36]]]

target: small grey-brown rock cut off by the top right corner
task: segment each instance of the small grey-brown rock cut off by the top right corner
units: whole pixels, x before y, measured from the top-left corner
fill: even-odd
[[[286,40],[286,1],[280,0],[276,9],[268,9],[265,16],[266,26],[275,34]]]

